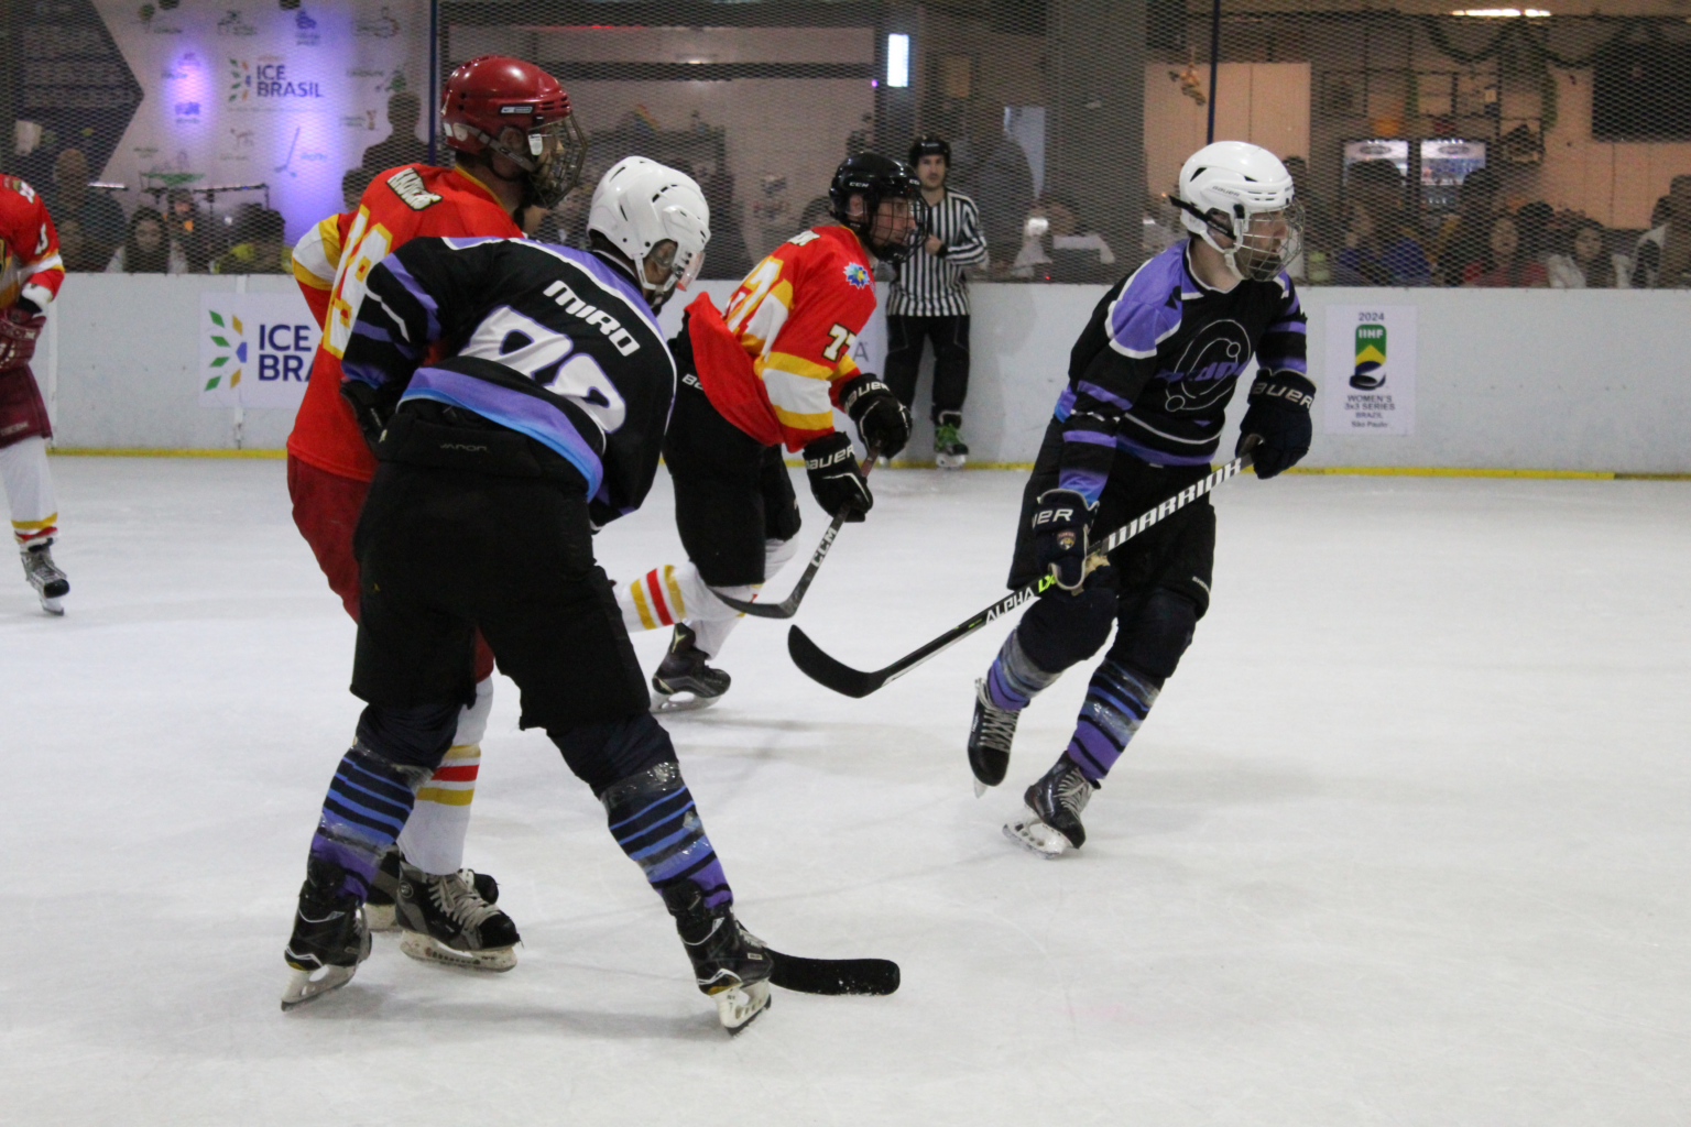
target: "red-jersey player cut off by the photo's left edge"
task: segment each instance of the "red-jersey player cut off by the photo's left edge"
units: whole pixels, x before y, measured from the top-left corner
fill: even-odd
[[[12,505],[12,536],[41,607],[63,615],[71,583],[52,563],[59,512],[47,470],[52,424],[29,370],[47,306],[64,280],[59,233],[36,189],[0,176],[0,476]]]

